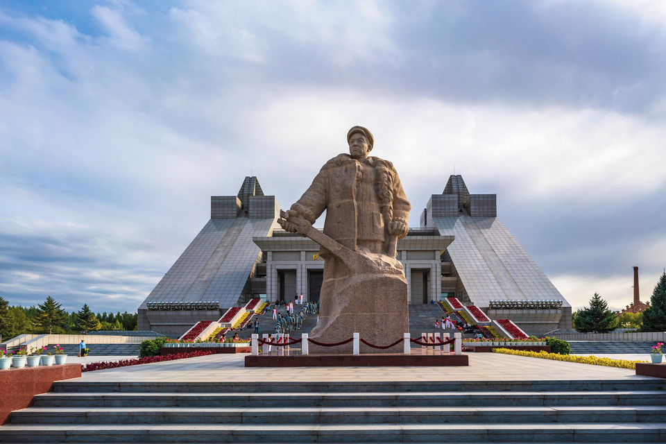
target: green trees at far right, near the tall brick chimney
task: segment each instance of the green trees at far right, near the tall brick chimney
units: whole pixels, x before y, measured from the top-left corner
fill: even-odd
[[[605,300],[595,293],[590,307],[583,307],[573,314],[573,323],[581,333],[608,333],[617,327],[640,329],[641,332],[666,332],[666,271],[652,291],[650,307],[642,313],[623,313],[615,316]]]

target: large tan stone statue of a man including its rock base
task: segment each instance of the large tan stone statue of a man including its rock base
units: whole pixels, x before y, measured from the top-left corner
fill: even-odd
[[[320,318],[310,337],[334,343],[359,332],[361,339],[388,345],[409,332],[407,280],[395,259],[407,235],[411,205],[393,164],[370,157],[373,135],[362,126],[347,133],[349,154],[321,168],[298,202],[282,213],[280,225],[316,241],[324,259]],[[311,224],[326,210],[323,232]],[[310,345],[312,352],[348,353]],[[361,345],[361,352],[400,352]]]

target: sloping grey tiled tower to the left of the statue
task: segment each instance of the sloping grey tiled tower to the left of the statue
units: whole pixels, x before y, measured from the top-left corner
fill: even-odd
[[[139,306],[139,330],[180,336],[198,321],[216,321],[221,309],[249,300],[261,250],[252,241],[268,236],[280,205],[264,196],[256,177],[246,177],[237,196],[211,196],[210,221]]]

